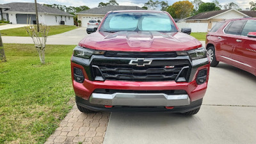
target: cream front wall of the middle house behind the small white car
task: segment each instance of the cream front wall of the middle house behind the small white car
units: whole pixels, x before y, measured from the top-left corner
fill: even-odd
[[[77,20],[81,20],[82,26],[87,27],[89,20],[100,20],[102,21],[105,15],[90,15],[90,14],[78,14]]]

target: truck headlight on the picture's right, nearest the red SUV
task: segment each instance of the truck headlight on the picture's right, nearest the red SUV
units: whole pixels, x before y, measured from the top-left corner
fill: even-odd
[[[177,51],[178,56],[189,56],[191,60],[197,60],[200,58],[207,58],[207,51],[204,47],[193,49],[190,51]]]

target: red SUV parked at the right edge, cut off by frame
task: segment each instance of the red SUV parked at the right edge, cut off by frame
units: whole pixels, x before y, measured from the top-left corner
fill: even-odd
[[[218,22],[207,34],[206,49],[211,67],[219,61],[256,76],[256,18]]]

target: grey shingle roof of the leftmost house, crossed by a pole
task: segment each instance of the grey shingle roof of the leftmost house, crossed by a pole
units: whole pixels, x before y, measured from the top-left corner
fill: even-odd
[[[4,12],[35,12],[35,3],[6,3],[2,4],[1,7],[8,7],[10,9],[5,10]],[[74,16],[70,13],[63,12],[57,8],[50,8],[44,6],[43,4],[37,4],[39,13],[52,13],[57,15],[67,15]]]

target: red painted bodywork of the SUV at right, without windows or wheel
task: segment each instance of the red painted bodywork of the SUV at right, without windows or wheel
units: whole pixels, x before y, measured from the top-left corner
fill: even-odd
[[[256,38],[224,33],[228,24],[236,20],[256,20],[256,18],[225,20],[225,24],[218,31],[207,34],[206,47],[214,45],[217,61],[223,61],[256,76]],[[255,32],[249,34],[255,35]]]

